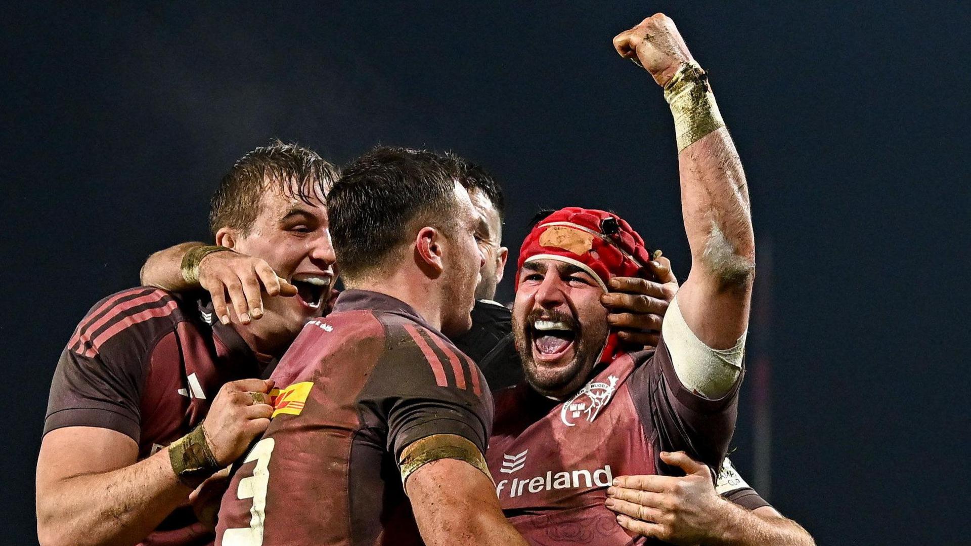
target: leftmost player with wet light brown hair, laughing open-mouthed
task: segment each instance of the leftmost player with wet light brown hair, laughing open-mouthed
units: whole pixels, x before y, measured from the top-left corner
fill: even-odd
[[[222,179],[211,209],[219,249],[313,283],[267,301],[258,323],[220,322],[205,292],[142,287],[102,299],[78,324],[54,372],[37,464],[42,544],[212,542],[190,494],[267,427],[272,381],[259,378],[321,313],[335,259],[323,196],[337,175],[318,154],[275,143]],[[190,279],[212,250],[187,256]]]

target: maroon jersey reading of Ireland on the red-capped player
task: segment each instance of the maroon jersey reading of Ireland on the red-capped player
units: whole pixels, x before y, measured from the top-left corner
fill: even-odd
[[[607,488],[621,475],[678,475],[661,451],[719,468],[739,384],[718,400],[688,391],[662,340],[616,358],[562,403],[525,383],[496,392],[485,459],[503,512],[531,544],[644,543],[604,505]]]

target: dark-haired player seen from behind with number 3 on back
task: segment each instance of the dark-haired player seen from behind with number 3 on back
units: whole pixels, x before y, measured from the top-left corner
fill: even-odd
[[[379,147],[327,205],[349,290],[273,373],[217,544],[524,544],[485,467],[485,378],[443,334],[471,326],[483,265],[467,190],[440,155]]]

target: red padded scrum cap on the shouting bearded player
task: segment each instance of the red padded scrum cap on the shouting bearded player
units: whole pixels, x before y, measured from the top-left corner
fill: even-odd
[[[651,253],[644,239],[619,216],[595,209],[567,207],[548,216],[526,236],[519,248],[517,270],[527,261],[556,259],[580,267],[605,292],[614,277],[649,277]],[[519,289],[519,275],[516,278]],[[600,356],[617,356],[619,340],[611,333]]]

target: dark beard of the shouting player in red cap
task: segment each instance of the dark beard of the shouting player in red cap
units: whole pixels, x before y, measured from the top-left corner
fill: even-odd
[[[551,376],[551,374],[540,374],[538,366],[533,360],[533,334],[534,330],[526,324],[533,324],[538,318],[563,322],[570,325],[575,332],[574,337],[574,357],[567,366]],[[587,380],[590,370],[596,364],[593,360],[597,358],[603,350],[607,339],[607,324],[595,324],[584,327],[578,324],[573,316],[554,310],[533,310],[519,321],[513,317],[513,336],[516,339],[516,351],[522,362],[522,372],[526,382],[534,391],[545,396],[554,398],[565,398],[572,392],[580,389]]]

